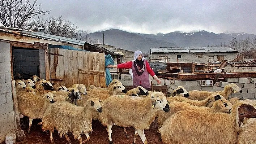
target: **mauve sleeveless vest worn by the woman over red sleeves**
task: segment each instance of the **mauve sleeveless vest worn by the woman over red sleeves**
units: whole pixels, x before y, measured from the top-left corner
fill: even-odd
[[[133,64],[134,62],[132,62],[133,87],[135,88],[138,86],[142,86],[144,88],[150,88],[149,73],[146,68],[146,60],[144,60],[145,70],[140,76],[138,76],[138,74],[136,73]]]

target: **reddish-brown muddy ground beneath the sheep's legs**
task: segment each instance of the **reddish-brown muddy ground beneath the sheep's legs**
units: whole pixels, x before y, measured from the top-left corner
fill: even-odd
[[[30,134],[27,133],[25,130],[25,134],[27,138],[23,141],[17,141],[15,144],[50,144],[50,134],[43,132],[39,125],[36,125],[38,120],[33,121],[33,125],[31,127]],[[160,140],[160,134],[157,133],[157,123],[154,121],[149,130],[144,130],[146,139],[148,140],[148,144],[163,144]],[[122,127],[113,126],[112,127],[112,140],[114,144],[132,144],[134,139],[134,128],[127,128],[126,129],[129,138],[127,138],[124,134],[124,130]],[[90,132],[90,140],[87,141],[85,144],[108,144],[108,136],[106,127],[104,127],[101,122],[93,121],[93,132]],[[71,139],[71,144],[79,144],[78,140],[74,140],[72,134],[68,134],[69,138]],[[65,137],[60,138],[57,132],[54,132],[53,138],[55,140],[55,144],[68,144],[68,141]],[[85,140],[86,136],[83,134],[82,139]],[[136,144],[143,144],[140,137],[136,137]],[[5,142],[1,143],[5,144]]]

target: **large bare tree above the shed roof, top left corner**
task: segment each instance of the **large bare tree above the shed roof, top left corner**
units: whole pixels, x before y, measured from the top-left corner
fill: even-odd
[[[37,0],[0,0],[0,23],[5,27],[26,29],[27,21],[40,14],[48,14],[37,5]]]

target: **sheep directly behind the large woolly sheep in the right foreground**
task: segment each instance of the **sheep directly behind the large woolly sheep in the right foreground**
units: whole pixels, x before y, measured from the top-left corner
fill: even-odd
[[[163,125],[163,122],[165,122],[165,120],[167,118],[169,118],[172,114],[179,112],[181,110],[206,110],[210,113],[225,113],[225,112],[230,112],[231,108],[232,108],[232,104],[227,101],[226,99],[218,99],[216,101],[213,102],[212,107],[205,107],[205,106],[194,106],[194,105],[190,105],[187,102],[180,102],[180,101],[173,101],[169,104],[170,106],[170,111],[166,114],[162,111],[158,111],[157,114],[157,123],[158,123],[158,127],[161,127]]]

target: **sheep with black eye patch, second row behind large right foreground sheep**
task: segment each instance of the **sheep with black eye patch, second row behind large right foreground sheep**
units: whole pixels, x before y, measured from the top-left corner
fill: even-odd
[[[212,95],[208,96],[205,100],[190,100],[185,97],[181,96],[174,96],[174,97],[167,97],[166,100],[168,102],[173,102],[173,101],[184,101],[187,102],[188,104],[194,105],[194,106],[206,106],[206,107],[212,107],[213,102],[219,99],[225,100],[225,97],[220,95],[219,93],[213,93]]]

